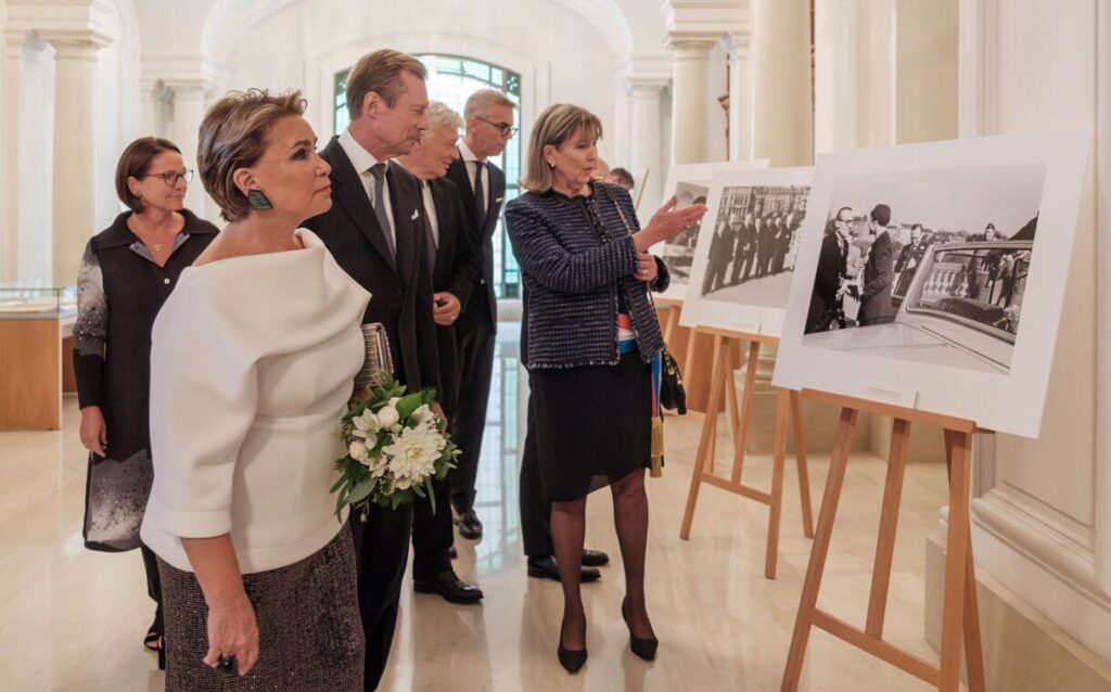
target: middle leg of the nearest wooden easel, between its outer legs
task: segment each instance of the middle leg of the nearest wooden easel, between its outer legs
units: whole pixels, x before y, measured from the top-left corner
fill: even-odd
[[[872,590],[868,600],[868,621],[864,631],[875,639],[883,638],[883,616],[888,608],[888,586],[891,584],[891,559],[895,550],[895,528],[899,525],[899,502],[902,499],[903,473],[907,470],[907,448],[910,421],[897,418],[891,431],[891,452],[888,454],[888,480],[883,487],[883,509],[880,512],[880,533],[875,541],[875,562],[872,568]]]

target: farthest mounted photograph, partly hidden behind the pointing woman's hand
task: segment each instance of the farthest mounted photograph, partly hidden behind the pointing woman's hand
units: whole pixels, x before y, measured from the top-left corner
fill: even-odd
[[[675,209],[705,203],[710,193],[710,181],[718,172],[759,170],[768,168],[767,159],[755,161],[717,161],[712,163],[677,163],[668,172],[663,185],[662,204],[675,197]],[[644,223],[655,213],[655,209],[643,210]],[[691,265],[694,262],[694,245],[698,242],[698,225],[680,233],[671,240],[652,247],[652,252],[663,259],[671,272],[671,285],[661,295],[682,299],[687,294]]]

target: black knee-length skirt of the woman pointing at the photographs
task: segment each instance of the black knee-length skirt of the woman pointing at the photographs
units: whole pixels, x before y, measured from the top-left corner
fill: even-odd
[[[544,497],[571,502],[650,463],[652,371],[638,351],[617,365],[533,370],[529,420]]]

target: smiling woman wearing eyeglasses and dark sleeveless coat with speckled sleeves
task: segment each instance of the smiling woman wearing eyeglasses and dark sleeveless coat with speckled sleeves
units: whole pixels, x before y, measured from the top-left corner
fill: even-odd
[[[81,444],[89,450],[84,544],[109,552],[140,549],[147,592],[158,605],[143,640],[162,650],[162,609],[154,554],[139,541],[153,479],[148,430],[150,334],[181,270],[218,229],[183,201],[192,178],[164,139],[131,142],[116,168],[116,192],[130,208],[94,235],[78,272],[73,370]]]

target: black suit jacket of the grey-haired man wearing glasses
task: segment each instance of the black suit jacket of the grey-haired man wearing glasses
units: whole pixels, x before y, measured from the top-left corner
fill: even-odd
[[[471,300],[463,303],[463,313],[474,310],[474,301],[482,300],[483,293],[490,307],[490,314],[497,322],[498,301],[493,292],[493,233],[498,228],[498,217],[501,214],[502,200],[506,198],[506,173],[493,163],[487,161],[490,170],[490,189],[487,193],[486,218],[478,219],[477,205],[474,202],[474,167],[469,167],[463,161],[462,156],[451,162],[448,167],[448,180],[459,188],[459,195],[463,200],[463,211],[468,225],[468,237],[471,243],[472,254],[479,262],[481,271],[478,290],[471,293]],[[484,290],[483,290],[484,289]],[[460,321],[466,321],[466,317],[460,317]]]

